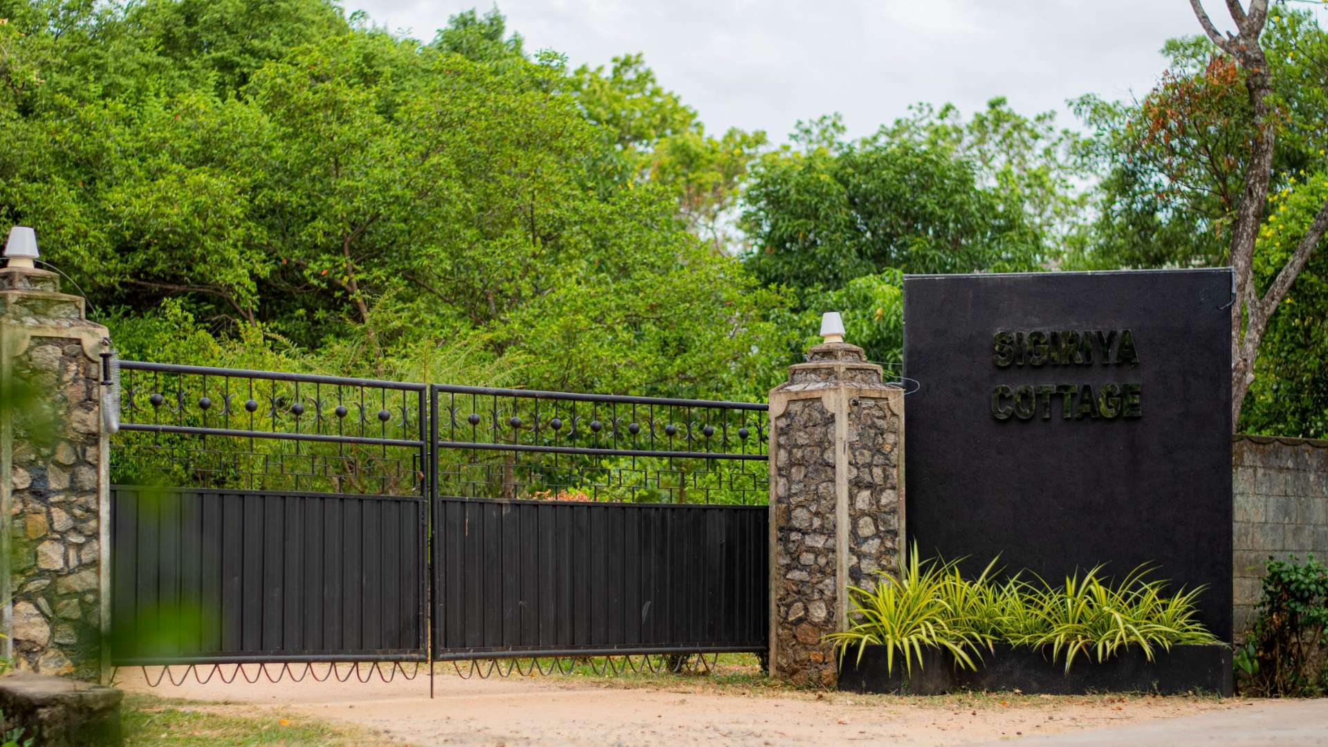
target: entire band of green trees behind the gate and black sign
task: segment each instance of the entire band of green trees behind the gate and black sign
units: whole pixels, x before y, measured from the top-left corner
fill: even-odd
[[[1328,41],[1278,8],[1262,279],[1324,199]],[[571,69],[497,12],[428,41],[329,0],[0,0],[0,223],[39,229],[124,352],[760,397],[822,311],[899,364],[904,272],[1226,262],[1242,72],[1166,44],[1089,134],[1004,98],[867,137],[712,133],[640,54]],[[1274,315],[1242,425],[1328,435],[1328,257]]]

